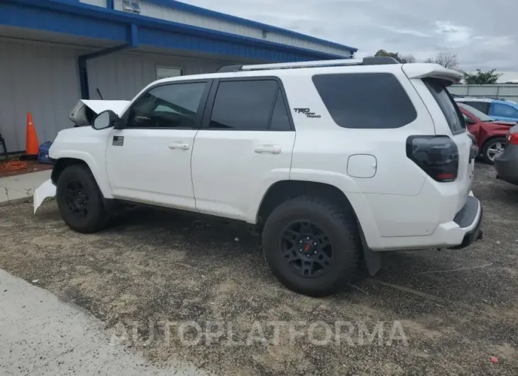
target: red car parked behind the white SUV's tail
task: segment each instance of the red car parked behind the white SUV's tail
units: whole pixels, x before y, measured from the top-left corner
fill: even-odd
[[[517,123],[497,121],[465,103],[457,102],[457,105],[464,116],[468,131],[477,139],[480,155],[485,162],[492,165],[495,155],[504,150],[507,131]]]

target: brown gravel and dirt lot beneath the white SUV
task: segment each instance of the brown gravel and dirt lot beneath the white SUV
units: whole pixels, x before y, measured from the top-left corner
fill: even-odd
[[[464,250],[387,255],[377,277],[326,299],[282,287],[258,239],[244,229],[150,210],[87,236],[65,227],[53,201],[36,216],[31,204],[2,207],[0,267],[38,279],[116,333],[138,324],[140,341],[133,346],[159,364],[175,354],[225,375],[517,375],[518,187],[496,182],[492,167],[477,167],[484,240]],[[233,337],[211,345],[182,344],[175,330],[167,343],[160,324],[197,321],[203,328],[220,320],[232,323]],[[325,321],[333,339],[320,345],[326,335],[320,325],[293,341],[281,329],[275,341],[272,327],[263,326],[268,321]],[[356,329],[363,321],[371,333],[384,321],[388,333],[381,343],[362,345],[351,332],[352,341],[338,344],[336,321]],[[401,339],[387,345],[394,321],[407,345]],[[257,334],[256,325],[266,343],[228,345],[230,337],[246,341],[252,329]]]

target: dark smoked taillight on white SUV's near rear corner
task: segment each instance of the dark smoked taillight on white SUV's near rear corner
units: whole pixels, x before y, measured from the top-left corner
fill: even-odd
[[[410,136],[407,157],[437,182],[457,178],[458,148],[448,136]]]

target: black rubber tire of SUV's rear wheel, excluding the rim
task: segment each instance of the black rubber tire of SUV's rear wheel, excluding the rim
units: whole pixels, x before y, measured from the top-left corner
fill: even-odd
[[[334,262],[324,275],[298,275],[283,258],[282,233],[294,221],[315,223],[331,241]],[[320,197],[290,199],[277,206],[268,216],[263,229],[263,253],[273,275],[288,289],[311,297],[333,294],[358,277],[362,245],[356,216]]]

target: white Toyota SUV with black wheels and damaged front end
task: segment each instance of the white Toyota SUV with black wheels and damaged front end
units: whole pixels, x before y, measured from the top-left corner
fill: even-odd
[[[123,109],[92,103],[114,105],[92,127],[61,131],[45,187],[83,233],[125,204],[253,223],[283,284],[330,294],[364,264],[375,273],[384,251],[481,237],[476,148],[446,90],[459,79],[387,57],[160,79]]]

